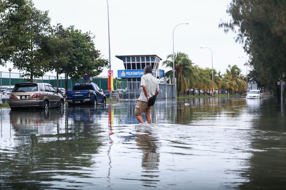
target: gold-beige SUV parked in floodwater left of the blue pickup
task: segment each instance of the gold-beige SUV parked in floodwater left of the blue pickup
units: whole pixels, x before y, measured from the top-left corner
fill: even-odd
[[[63,108],[63,96],[48,83],[18,83],[10,94],[9,106],[15,108]]]

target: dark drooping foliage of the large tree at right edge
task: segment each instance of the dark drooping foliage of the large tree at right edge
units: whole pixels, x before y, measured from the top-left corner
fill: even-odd
[[[244,44],[257,80],[268,86],[286,71],[286,1],[232,0],[219,27],[236,32]]]

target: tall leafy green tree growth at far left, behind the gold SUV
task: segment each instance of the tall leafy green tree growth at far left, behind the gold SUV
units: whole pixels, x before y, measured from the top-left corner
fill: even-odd
[[[1,3],[1,7],[4,7],[1,11],[1,32],[4,36],[1,49],[4,49],[4,54],[1,58],[4,62],[13,62],[13,68],[25,71],[22,77],[29,77],[32,82],[33,77],[43,76],[48,70],[48,62],[43,56],[42,39],[50,31],[50,18],[48,11],[36,9],[32,1],[15,2],[15,5],[14,1]],[[9,11],[8,15],[4,13],[6,10]]]

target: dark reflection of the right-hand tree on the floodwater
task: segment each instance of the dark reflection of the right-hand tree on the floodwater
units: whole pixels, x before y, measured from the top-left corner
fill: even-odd
[[[249,167],[241,174],[249,178],[249,182],[240,185],[240,189],[285,189],[284,113],[279,113],[281,108],[275,101],[247,101],[247,105],[258,119],[253,122],[251,157],[245,162]]]

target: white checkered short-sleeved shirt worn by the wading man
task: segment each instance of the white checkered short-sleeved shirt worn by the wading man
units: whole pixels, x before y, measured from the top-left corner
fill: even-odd
[[[138,100],[148,102],[142,88],[143,85],[146,86],[148,95],[152,97],[155,95],[156,90],[159,90],[159,83],[151,73],[147,73],[141,77],[141,93]]]

